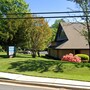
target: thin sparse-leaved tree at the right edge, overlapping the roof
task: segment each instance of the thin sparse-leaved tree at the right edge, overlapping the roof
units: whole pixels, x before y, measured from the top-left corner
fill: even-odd
[[[84,23],[82,23],[84,26],[86,26],[87,30],[83,31],[82,34],[85,36],[85,39],[88,41],[89,48],[90,48],[90,0],[68,0],[73,1],[77,5],[79,5],[80,9],[83,11],[83,18]],[[89,50],[89,56],[90,56],[90,50]],[[90,62],[90,58],[89,58]]]

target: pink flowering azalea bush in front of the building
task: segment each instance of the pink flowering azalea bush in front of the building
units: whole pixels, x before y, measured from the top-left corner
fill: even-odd
[[[72,53],[66,54],[62,57],[62,61],[69,61],[69,62],[81,62],[81,58],[78,56],[73,55]]]

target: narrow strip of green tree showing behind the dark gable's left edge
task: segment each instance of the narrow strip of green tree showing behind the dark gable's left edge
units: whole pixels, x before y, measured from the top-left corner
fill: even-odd
[[[60,22],[65,22],[65,21],[63,19],[57,19],[57,20],[55,20],[54,24],[51,26],[51,29],[52,29],[51,41],[54,41],[54,39],[55,39],[56,32],[57,32],[57,29],[58,29],[58,25],[59,25]]]

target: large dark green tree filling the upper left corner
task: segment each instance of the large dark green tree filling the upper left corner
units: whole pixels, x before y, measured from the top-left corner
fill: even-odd
[[[24,15],[18,13],[26,12],[29,10],[24,0],[0,0],[0,18],[6,18],[0,20],[0,44],[2,46],[17,46],[21,43],[23,40],[21,34],[24,34],[23,20],[7,18],[23,18]]]

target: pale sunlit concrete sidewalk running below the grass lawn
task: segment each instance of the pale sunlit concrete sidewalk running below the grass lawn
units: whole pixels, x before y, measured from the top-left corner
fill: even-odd
[[[90,82],[43,78],[34,76],[25,76],[20,74],[11,74],[0,72],[0,78],[9,79],[11,82],[17,81],[24,84],[47,85],[53,87],[77,88],[82,90],[90,90]]]

